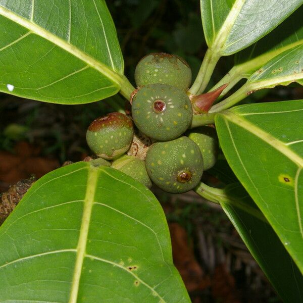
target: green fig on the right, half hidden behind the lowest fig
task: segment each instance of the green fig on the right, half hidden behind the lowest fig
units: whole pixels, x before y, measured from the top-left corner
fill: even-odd
[[[204,170],[212,168],[217,161],[219,149],[216,130],[210,126],[201,126],[190,130],[187,136],[199,146],[203,157]]]

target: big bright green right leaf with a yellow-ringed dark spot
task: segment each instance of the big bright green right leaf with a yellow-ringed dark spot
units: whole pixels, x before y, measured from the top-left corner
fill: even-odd
[[[303,100],[235,107],[216,116],[221,147],[303,272]]]

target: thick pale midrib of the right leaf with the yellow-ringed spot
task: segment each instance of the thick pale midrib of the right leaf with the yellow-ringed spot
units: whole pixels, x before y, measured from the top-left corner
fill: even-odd
[[[224,117],[229,120],[230,122],[237,124],[238,126],[244,128],[248,132],[256,135],[260,139],[262,139],[267,144],[270,144],[273,148],[280,151],[281,154],[289,158],[292,162],[294,162],[298,167],[303,167],[303,159],[294,153],[290,148],[288,148],[283,142],[276,139],[269,133],[265,132],[261,128],[257,127],[256,125],[250,123],[244,118],[240,118],[239,116],[235,115],[234,113],[227,111],[223,114]]]

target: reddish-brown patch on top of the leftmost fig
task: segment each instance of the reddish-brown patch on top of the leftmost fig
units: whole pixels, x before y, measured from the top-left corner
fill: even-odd
[[[102,128],[113,126],[132,128],[131,120],[122,113],[110,113],[106,116],[95,119],[88,127],[89,131],[98,131]]]

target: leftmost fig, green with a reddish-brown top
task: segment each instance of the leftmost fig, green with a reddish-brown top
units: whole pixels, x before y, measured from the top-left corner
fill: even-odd
[[[89,125],[86,141],[97,156],[112,160],[129,149],[133,134],[130,118],[121,113],[111,113],[95,119]]]

